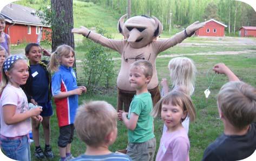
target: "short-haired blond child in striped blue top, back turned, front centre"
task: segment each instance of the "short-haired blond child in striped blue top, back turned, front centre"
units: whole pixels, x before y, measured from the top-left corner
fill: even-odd
[[[122,153],[109,151],[117,136],[117,113],[105,101],[92,101],[81,105],[76,112],[75,129],[86,143],[86,152],[73,161],[82,160],[131,160]]]

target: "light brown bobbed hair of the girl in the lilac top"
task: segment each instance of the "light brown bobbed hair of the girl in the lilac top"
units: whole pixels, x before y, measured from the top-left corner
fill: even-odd
[[[179,106],[182,108],[183,111],[187,111],[190,121],[195,120],[194,104],[192,103],[191,97],[185,92],[174,89],[171,92],[167,93],[167,95],[162,97],[162,99],[155,104],[155,107],[152,111],[153,117],[160,116],[163,104],[172,104],[173,106]],[[181,121],[184,121],[186,117]]]

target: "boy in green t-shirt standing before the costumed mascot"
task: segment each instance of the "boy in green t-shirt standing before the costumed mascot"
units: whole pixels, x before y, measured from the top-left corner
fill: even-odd
[[[133,160],[153,160],[156,149],[153,132],[153,117],[150,115],[153,103],[148,92],[148,83],[153,75],[149,61],[135,61],[130,65],[130,86],[136,89],[136,95],[130,103],[129,113],[120,110],[119,120],[128,129],[127,155]],[[128,115],[128,117],[127,117]]]

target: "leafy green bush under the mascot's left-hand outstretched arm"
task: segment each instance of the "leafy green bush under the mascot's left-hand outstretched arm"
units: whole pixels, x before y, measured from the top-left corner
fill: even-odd
[[[111,38],[110,34],[101,27],[96,27],[97,33]],[[96,44],[90,39],[83,39],[83,46],[87,48],[83,60],[83,73],[87,87],[87,93],[94,93],[102,88],[109,88],[109,82],[113,79],[114,61],[105,47]]]

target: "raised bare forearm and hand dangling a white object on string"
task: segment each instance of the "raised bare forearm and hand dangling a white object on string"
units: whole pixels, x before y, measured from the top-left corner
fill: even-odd
[[[213,66],[213,71],[218,74],[225,74],[229,81],[240,81],[239,78],[225,64],[219,63]]]

